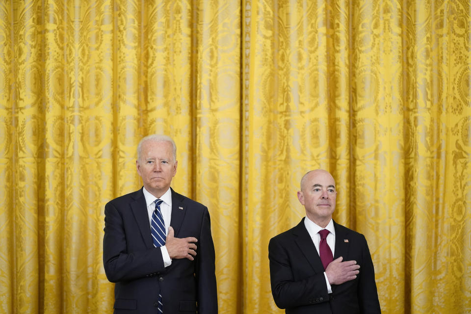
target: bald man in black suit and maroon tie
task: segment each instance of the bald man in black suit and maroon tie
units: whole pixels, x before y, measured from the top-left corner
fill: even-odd
[[[271,291],[287,314],[381,313],[365,236],[332,219],[337,191],[325,170],[301,179],[306,217],[270,239]]]

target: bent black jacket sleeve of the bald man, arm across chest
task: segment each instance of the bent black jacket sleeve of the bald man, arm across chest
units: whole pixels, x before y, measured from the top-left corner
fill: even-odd
[[[295,245],[295,244],[294,244]],[[268,244],[271,292],[280,309],[312,305],[329,301],[323,272],[295,280],[293,261],[280,239],[272,238]]]

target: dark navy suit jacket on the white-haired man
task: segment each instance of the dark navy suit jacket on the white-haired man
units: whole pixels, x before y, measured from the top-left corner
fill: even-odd
[[[103,262],[106,277],[116,283],[114,313],[217,313],[215,254],[208,209],[172,192],[170,225],[175,237],[198,239],[194,261],[173,259],[163,265],[154,247],[142,188],[105,205]]]

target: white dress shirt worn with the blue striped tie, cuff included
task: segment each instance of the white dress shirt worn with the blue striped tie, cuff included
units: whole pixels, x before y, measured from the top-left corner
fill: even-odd
[[[156,210],[156,203],[154,202],[157,200],[157,197],[152,195],[145,187],[142,188],[142,192],[146,199],[147,214],[149,216],[149,232],[151,232],[152,214],[154,210]],[[165,223],[165,235],[168,235],[168,227],[170,226],[170,219],[172,218],[172,192],[170,188],[163,193],[159,199],[163,201],[160,204],[160,212],[162,213],[163,222]],[[161,246],[160,251],[162,252],[163,265],[165,267],[170,266],[172,259],[170,259],[168,255],[167,247],[165,245]]]

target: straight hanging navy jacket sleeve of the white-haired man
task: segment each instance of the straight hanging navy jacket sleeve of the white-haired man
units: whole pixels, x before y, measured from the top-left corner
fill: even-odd
[[[198,287],[198,313],[217,314],[215,259],[209,211],[208,208],[205,207],[195,259],[195,279]]]

